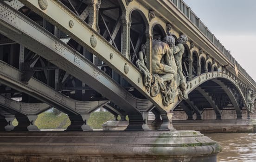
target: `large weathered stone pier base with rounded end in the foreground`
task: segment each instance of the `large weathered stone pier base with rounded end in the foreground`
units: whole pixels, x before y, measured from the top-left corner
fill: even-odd
[[[0,162],[216,162],[198,131],[0,133]]]

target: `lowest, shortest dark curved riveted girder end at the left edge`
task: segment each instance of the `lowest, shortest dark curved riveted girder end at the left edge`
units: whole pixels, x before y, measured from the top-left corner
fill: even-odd
[[[25,103],[11,100],[3,95],[0,95],[0,106],[12,109],[24,115],[37,115],[40,112],[51,108],[52,106],[45,103]]]

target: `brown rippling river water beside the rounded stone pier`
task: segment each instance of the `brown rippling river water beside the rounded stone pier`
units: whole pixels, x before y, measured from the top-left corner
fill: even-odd
[[[222,146],[218,162],[256,162],[256,134],[213,133],[205,136]]]

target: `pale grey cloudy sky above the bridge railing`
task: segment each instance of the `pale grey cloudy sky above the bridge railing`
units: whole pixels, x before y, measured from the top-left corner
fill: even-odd
[[[183,0],[256,81],[256,0]]]

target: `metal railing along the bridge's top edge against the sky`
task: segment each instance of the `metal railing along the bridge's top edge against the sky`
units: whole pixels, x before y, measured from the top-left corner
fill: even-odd
[[[169,0],[171,1],[204,35],[207,37],[223,54],[226,56],[230,62],[237,65],[237,69],[256,87],[256,82],[248,75],[246,70],[244,70],[236,59],[230,55],[230,51],[227,50],[219,40],[208,30],[207,26],[198,18],[198,16],[192,12],[189,6],[183,0]]]

